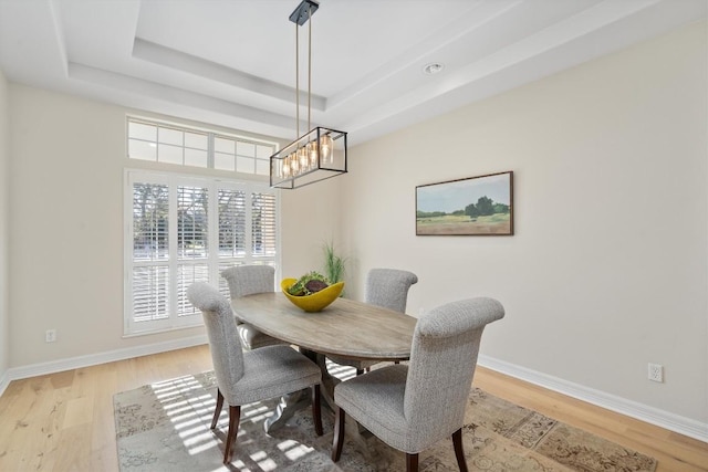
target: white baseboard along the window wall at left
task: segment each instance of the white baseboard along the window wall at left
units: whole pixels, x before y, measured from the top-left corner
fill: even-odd
[[[0,395],[2,395],[12,380],[37,377],[46,374],[61,373],[63,370],[81,367],[96,366],[116,360],[131,359],[133,357],[183,349],[185,347],[207,344],[207,335],[191,336],[164,343],[148,344],[144,346],[126,347],[124,349],[107,350],[105,353],[90,354],[86,356],[69,357],[49,363],[33,364],[23,367],[12,367],[0,378]]]

